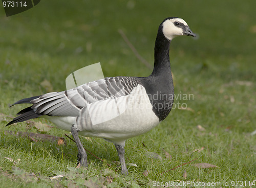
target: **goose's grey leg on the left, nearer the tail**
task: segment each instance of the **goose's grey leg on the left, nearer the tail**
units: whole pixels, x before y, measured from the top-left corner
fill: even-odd
[[[79,130],[77,128],[74,127],[74,125],[71,128],[71,134],[76,142],[76,146],[78,148],[78,154],[77,154],[77,162],[80,162],[80,165],[83,167],[87,167],[88,163],[87,163],[87,154],[86,154],[86,150],[84,150],[82,143],[78,137],[78,132]]]

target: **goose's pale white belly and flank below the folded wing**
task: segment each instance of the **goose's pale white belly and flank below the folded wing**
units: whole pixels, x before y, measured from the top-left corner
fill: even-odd
[[[111,100],[113,101],[113,99]],[[102,137],[117,142],[143,134],[159,124],[159,119],[152,111],[152,104],[141,85],[135,87],[130,95],[116,99],[115,103],[106,102],[105,105],[94,103],[93,105],[89,108],[97,110],[84,109],[77,119],[76,125],[80,130],[80,135]],[[114,109],[113,111],[116,114],[115,105],[120,114],[104,121],[107,119],[104,117],[104,112],[109,114]],[[99,119],[102,119],[101,123],[93,124],[94,113]]]

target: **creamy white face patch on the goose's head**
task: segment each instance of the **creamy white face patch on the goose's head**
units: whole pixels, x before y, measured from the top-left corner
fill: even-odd
[[[174,37],[183,35],[182,28],[179,28],[179,27],[174,25],[174,22],[176,22],[176,21],[178,21],[180,23],[183,23],[185,26],[187,26],[186,21],[184,21],[181,18],[174,18],[174,19],[165,20],[163,22],[163,34],[169,40],[172,40]]]

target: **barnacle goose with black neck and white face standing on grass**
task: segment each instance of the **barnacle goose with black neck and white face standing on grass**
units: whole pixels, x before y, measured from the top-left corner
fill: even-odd
[[[169,45],[180,35],[196,37],[181,18],[168,17],[162,21],[150,76],[104,78],[70,90],[22,99],[13,105],[30,103],[32,106],[19,111],[19,116],[7,126],[43,117],[59,128],[71,131],[78,148],[78,162],[85,167],[88,166],[87,153],[78,134],[104,138],[115,145],[121,173],[128,174],[124,160],[125,140],[151,130],[172,109],[174,85]]]

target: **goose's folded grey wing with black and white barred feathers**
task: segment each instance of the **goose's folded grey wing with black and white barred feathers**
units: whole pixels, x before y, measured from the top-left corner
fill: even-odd
[[[91,103],[129,95],[138,84],[136,77],[104,78],[42,95],[31,101],[32,109],[41,115],[78,116],[80,110]]]

